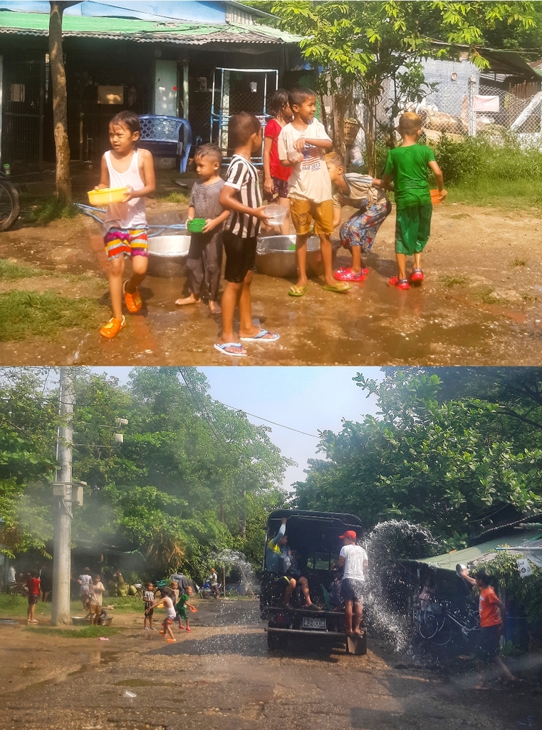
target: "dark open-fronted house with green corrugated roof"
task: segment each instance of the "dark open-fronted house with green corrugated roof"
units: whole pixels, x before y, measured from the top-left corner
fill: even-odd
[[[55,158],[49,12],[43,0],[0,0],[0,149],[12,169]],[[230,0],[75,4],[63,16],[72,159],[98,160],[108,120],[123,109],[187,118],[195,142],[217,137],[212,107],[216,120],[224,98],[228,114],[262,115],[276,83],[303,73],[298,43]]]

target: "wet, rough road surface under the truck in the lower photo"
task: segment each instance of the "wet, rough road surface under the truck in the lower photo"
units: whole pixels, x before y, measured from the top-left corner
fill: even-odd
[[[472,691],[473,675],[413,666],[371,636],[367,656],[269,653],[256,601],[197,605],[177,644],[138,615],[115,616],[124,628],[109,642],[0,623],[0,728],[514,730],[529,716],[542,727],[534,683]]]

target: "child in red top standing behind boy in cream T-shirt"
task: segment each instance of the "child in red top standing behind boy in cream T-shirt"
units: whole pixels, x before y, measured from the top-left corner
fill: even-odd
[[[290,200],[288,199],[288,180],[291,167],[284,167],[279,160],[279,134],[292,120],[292,110],[288,103],[286,89],[277,89],[271,97],[273,118],[266,124],[263,139],[263,197],[268,203],[278,203],[287,209],[287,216],[280,228],[283,236],[290,234]]]

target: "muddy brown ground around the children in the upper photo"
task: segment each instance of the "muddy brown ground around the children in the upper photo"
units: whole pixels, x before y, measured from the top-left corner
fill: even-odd
[[[179,188],[177,188],[179,189]],[[153,223],[179,220],[187,207],[150,201]],[[347,211],[345,211],[347,215]],[[387,286],[395,274],[392,213],[368,255],[367,280],[347,294],[313,280],[305,296],[287,296],[289,280],[255,274],[255,321],[280,334],[275,344],[250,344],[247,358],[213,349],[220,317],[204,304],[175,307],[183,279],[147,277],[144,308],[112,341],[98,328],[74,328],[54,340],[0,343],[3,364],[81,365],[535,365],[541,362],[542,220],[535,212],[435,207],[425,250],[422,287]],[[90,218],[55,221],[0,234],[0,256],[42,266],[51,276],[0,283],[0,292],[53,290],[90,296],[109,318],[107,259],[100,228]],[[349,263],[341,250],[337,267]],[[75,276],[74,276],[75,274]]]

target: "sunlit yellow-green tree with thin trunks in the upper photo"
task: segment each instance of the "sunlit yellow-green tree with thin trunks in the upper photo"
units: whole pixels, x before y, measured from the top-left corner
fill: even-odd
[[[360,88],[371,174],[376,174],[376,106],[387,81],[397,91],[388,110],[393,118],[401,104],[421,101],[429,91],[423,58],[457,54],[457,46],[466,45],[473,62],[487,66],[479,47],[490,34],[514,37],[517,31],[532,31],[537,19],[534,4],[522,1],[281,0],[271,5],[271,13],[302,37],[301,53],[322,69],[320,91],[333,96],[333,136],[340,151],[344,116],[352,112],[355,88]]]

